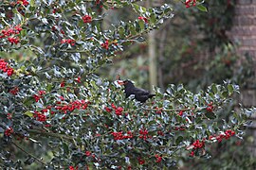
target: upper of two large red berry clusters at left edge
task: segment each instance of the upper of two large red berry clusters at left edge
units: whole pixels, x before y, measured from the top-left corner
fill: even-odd
[[[14,26],[14,28],[3,29],[1,31],[2,35],[0,35],[0,39],[8,38],[8,41],[10,43],[17,44],[18,42],[20,42],[20,40],[18,37],[15,37],[15,35],[19,34],[21,30],[22,28],[20,26]]]

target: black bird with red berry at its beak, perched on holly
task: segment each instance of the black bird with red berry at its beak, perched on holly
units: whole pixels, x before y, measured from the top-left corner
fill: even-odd
[[[130,80],[118,81],[120,85],[124,85],[125,97],[134,94],[137,101],[144,103],[147,99],[152,98],[155,94],[150,93],[144,89],[138,89]]]

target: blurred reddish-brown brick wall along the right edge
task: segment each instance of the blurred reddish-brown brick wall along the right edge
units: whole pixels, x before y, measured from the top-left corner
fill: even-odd
[[[249,55],[255,63],[256,73],[256,0],[236,0],[233,26],[229,32],[232,41],[240,42],[238,53]],[[255,78],[256,84],[256,78]],[[244,106],[256,106],[256,89],[247,89],[241,92],[241,102]],[[254,136],[248,150],[256,156],[256,114],[251,117],[252,124],[247,130],[247,134]]]

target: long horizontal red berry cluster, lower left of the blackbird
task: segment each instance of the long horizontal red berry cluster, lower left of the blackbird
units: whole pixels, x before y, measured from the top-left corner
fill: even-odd
[[[60,104],[60,102],[57,102],[57,104]],[[64,111],[64,113],[66,113],[67,111],[73,111],[75,109],[86,110],[87,107],[88,107],[88,102],[85,102],[85,100],[76,100],[64,106],[56,106],[55,109]]]

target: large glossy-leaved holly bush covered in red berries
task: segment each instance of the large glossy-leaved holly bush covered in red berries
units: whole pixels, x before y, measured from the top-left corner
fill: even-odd
[[[187,8],[199,1],[186,1]],[[94,73],[126,45],[173,17],[172,8],[137,1],[0,3],[0,166],[46,169],[168,169],[182,156],[210,158],[210,144],[243,135],[254,109],[222,112],[239,87],[225,82],[192,93],[155,87],[155,98],[125,98],[119,80]],[[137,18],[103,29],[114,8]],[[36,164],[36,165],[35,165]]]

